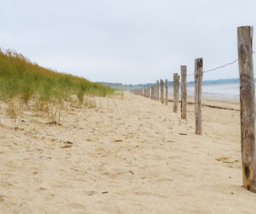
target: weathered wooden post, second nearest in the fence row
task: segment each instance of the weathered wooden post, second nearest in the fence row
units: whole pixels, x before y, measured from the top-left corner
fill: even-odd
[[[202,135],[202,80],[203,58],[195,59],[195,130]]]

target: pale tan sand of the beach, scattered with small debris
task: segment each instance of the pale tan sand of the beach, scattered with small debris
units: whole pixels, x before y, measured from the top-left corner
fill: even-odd
[[[17,130],[1,103],[0,213],[255,213],[239,103],[204,100],[235,111],[202,107],[195,135],[194,105],[186,121],[172,102],[93,99],[61,111],[61,125],[26,109]]]

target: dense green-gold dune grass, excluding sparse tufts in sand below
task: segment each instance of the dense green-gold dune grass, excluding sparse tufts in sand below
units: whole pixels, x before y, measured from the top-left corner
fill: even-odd
[[[31,99],[61,103],[77,95],[79,102],[83,103],[84,95],[107,96],[113,92],[84,78],[39,66],[15,50],[0,49],[1,100],[20,98],[25,104]]]

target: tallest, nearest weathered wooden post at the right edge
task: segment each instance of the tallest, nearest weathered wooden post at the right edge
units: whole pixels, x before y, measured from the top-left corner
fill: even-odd
[[[256,193],[255,86],[251,26],[237,27],[237,49],[240,78],[243,187]]]

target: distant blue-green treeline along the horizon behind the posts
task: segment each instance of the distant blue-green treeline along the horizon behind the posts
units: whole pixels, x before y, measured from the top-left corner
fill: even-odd
[[[256,79],[255,79],[256,80]],[[204,80],[203,84],[207,85],[207,84],[228,84],[228,83],[236,83],[239,82],[239,79],[218,79],[218,80]],[[124,87],[148,87],[148,86],[153,86],[155,83],[146,83],[146,84],[122,84],[122,83],[112,83],[112,82],[97,82],[99,84],[102,84],[104,86],[111,86],[111,87],[115,87],[115,86],[124,86]],[[191,81],[188,82],[187,84],[189,85],[193,85],[195,84],[195,81]],[[164,86],[165,86],[165,82],[164,82]],[[168,86],[173,86],[173,81],[168,81]]]

